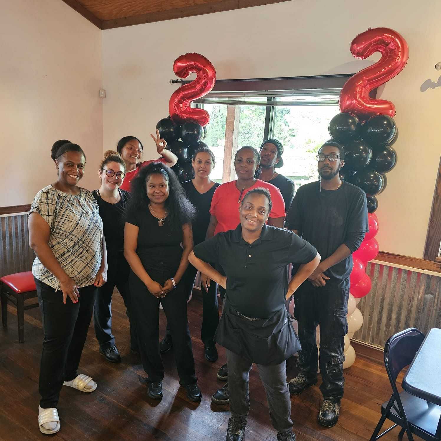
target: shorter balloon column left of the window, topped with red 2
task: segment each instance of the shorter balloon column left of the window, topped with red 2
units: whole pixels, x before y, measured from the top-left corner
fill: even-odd
[[[156,125],[161,138],[167,141],[168,149],[178,157],[172,169],[179,181],[183,182],[194,178],[191,164],[194,152],[208,147],[203,140],[207,134],[206,125],[210,121],[209,113],[204,109],[191,108],[191,102],[213,89],[216,71],[213,64],[198,53],[179,56],[173,63],[173,71],[180,78],[196,73],[192,82],[173,92],[168,103],[170,116]]]

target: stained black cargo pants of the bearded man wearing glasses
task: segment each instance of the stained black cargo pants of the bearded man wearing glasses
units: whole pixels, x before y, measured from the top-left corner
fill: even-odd
[[[294,317],[299,323],[297,367],[308,378],[317,376],[316,328],[320,324],[320,385],[324,398],[340,402],[343,397],[344,336],[348,333],[349,288],[314,287],[306,280],[294,295]]]

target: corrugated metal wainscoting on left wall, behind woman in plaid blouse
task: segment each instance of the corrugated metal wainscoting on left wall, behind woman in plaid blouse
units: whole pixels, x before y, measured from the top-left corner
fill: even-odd
[[[29,247],[28,216],[0,217],[0,277],[32,268],[35,255]]]

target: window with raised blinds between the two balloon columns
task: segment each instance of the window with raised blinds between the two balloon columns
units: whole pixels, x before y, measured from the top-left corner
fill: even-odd
[[[329,122],[339,113],[340,89],[349,77],[339,78],[340,84],[318,84],[317,88],[291,90],[277,87],[280,80],[286,78],[263,80],[265,87],[273,81],[272,91],[238,90],[243,87],[243,82],[251,82],[247,86],[251,89],[261,89],[262,85],[252,80],[237,80],[238,84],[235,81],[222,84],[224,90],[214,90],[196,101],[211,116],[205,142],[216,156],[212,179],[216,182],[235,179],[233,161],[239,147],[259,148],[264,139],[277,138],[284,146],[284,166],[277,172],[292,179],[296,189],[317,180],[315,156],[318,148],[329,139]],[[299,79],[304,78],[294,78]],[[307,86],[311,86],[311,82]]]

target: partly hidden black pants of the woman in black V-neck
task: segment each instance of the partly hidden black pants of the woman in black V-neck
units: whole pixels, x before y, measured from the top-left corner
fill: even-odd
[[[198,270],[194,268],[191,263],[188,264],[187,270],[183,276],[183,282],[185,286],[185,292],[187,293],[187,300],[190,298],[190,294],[193,290],[194,280]],[[217,325],[219,325],[219,305],[217,303],[217,283],[211,282],[212,285],[216,285],[206,292],[202,288],[202,328],[201,328],[201,340],[203,344],[210,344],[213,342],[214,333],[216,332]],[[221,287],[224,291],[224,288]],[[167,335],[170,335],[170,326],[167,323]]]

